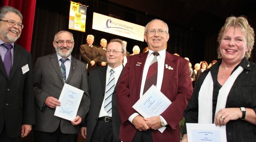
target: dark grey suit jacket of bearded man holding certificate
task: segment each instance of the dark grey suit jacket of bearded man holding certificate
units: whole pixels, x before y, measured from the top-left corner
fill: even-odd
[[[39,57],[33,70],[34,95],[36,104],[36,125],[37,131],[52,133],[60,125],[64,134],[77,134],[79,125],[73,126],[69,120],[54,116],[55,109],[44,105],[48,96],[59,98],[64,86],[57,54]],[[86,65],[74,57],[71,57],[70,72],[66,84],[84,91],[81,103],[77,112],[82,120],[89,110],[90,98],[88,95]]]

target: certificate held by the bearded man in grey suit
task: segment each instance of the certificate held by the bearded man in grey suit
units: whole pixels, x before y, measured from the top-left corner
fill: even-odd
[[[66,120],[74,120],[83,94],[83,90],[64,84],[59,98],[61,104],[56,107],[54,115]]]

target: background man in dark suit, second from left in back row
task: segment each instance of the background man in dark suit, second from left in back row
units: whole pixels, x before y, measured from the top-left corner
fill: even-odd
[[[107,46],[107,39],[102,38],[100,40],[100,47],[98,49],[99,53],[99,60],[97,62],[97,66],[105,66],[107,65],[107,60],[106,60],[106,46]]]

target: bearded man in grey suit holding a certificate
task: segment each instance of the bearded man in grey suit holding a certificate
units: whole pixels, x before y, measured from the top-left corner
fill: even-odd
[[[77,139],[79,124],[89,110],[86,65],[71,56],[73,34],[60,31],[55,34],[56,53],[39,57],[34,65],[33,83],[36,104],[35,142],[73,142]],[[73,121],[54,116],[64,84],[84,91],[76,118]]]

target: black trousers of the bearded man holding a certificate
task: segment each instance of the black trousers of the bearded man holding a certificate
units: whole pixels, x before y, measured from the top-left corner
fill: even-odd
[[[78,134],[63,134],[58,129],[53,133],[34,130],[34,142],[77,142]]]

